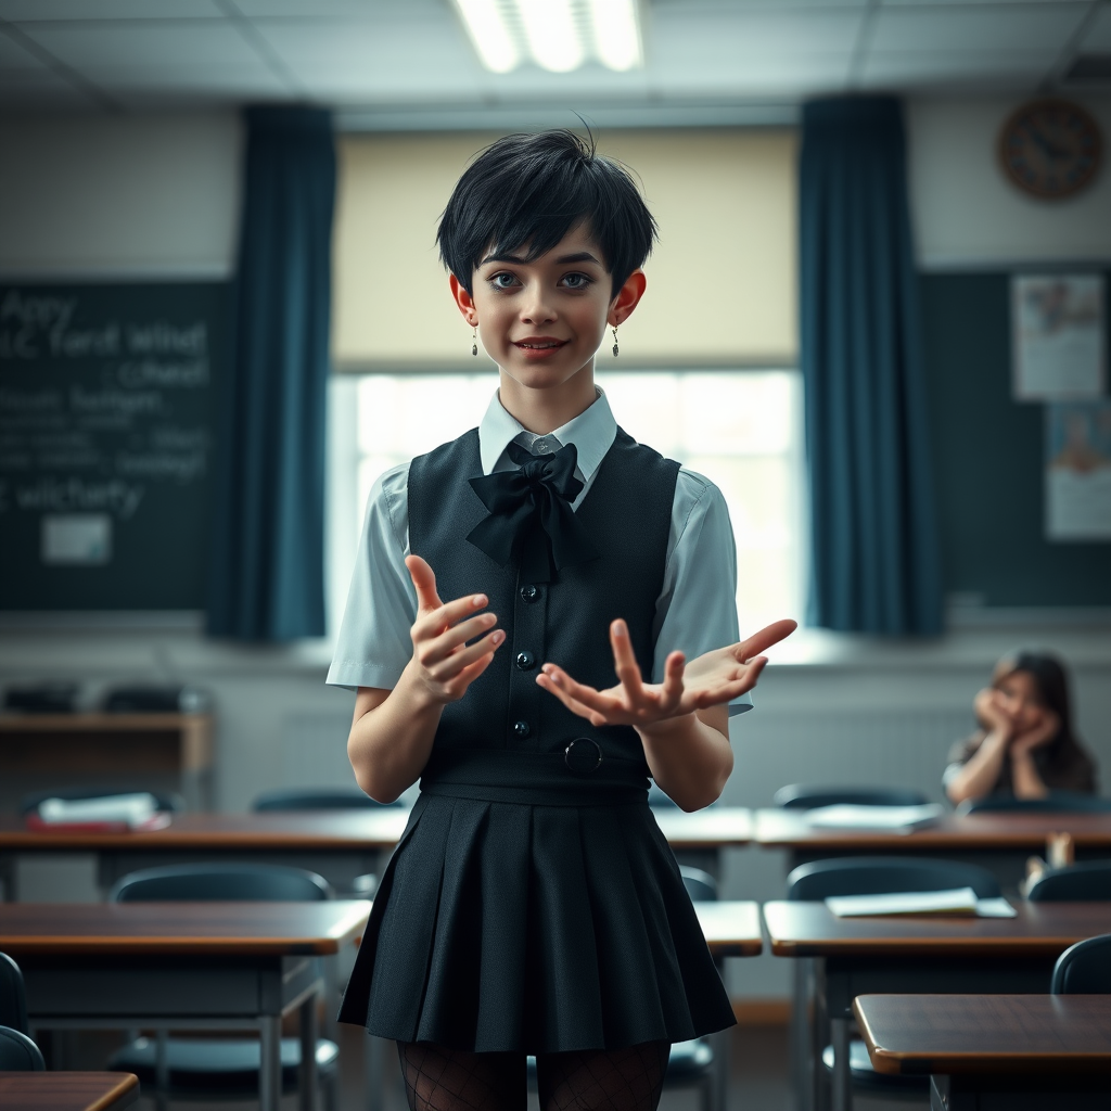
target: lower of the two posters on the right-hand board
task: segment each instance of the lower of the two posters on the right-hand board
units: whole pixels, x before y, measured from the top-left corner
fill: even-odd
[[[1111,540],[1111,401],[1045,407],[1045,539]]]

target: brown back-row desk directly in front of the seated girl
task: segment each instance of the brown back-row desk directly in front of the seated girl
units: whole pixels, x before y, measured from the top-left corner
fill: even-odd
[[[899,833],[815,829],[799,810],[758,810],[754,838],[764,849],[787,849],[788,868],[829,857],[921,853],[982,864],[1004,891],[1018,890],[1027,858],[1044,855],[1052,833],[1071,833],[1078,860],[1111,857],[1111,813],[943,814],[935,825]]]

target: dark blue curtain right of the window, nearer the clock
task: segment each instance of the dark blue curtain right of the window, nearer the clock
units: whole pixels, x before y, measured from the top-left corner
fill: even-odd
[[[801,359],[810,474],[809,619],[941,630],[938,536],[907,204],[890,97],[803,107]]]

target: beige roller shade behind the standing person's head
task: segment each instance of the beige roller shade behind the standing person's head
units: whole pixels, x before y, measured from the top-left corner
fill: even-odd
[[[436,228],[468,160],[493,138],[341,137],[340,370],[476,369]],[[620,330],[622,367],[793,364],[794,132],[608,132],[598,146],[635,170],[660,224],[648,292]]]

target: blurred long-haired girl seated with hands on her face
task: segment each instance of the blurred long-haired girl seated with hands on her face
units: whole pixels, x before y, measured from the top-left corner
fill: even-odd
[[[980,729],[954,747],[942,782],[952,802],[1050,791],[1095,793],[1095,761],[1072,732],[1063,664],[1019,652],[995,664],[991,687],[975,697]]]

